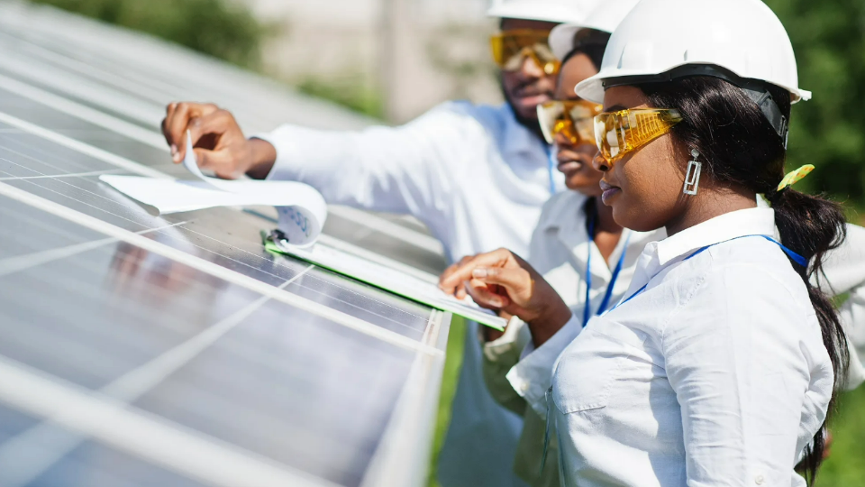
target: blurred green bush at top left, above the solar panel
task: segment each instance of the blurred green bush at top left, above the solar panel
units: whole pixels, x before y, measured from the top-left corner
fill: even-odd
[[[259,68],[260,46],[273,32],[230,0],[32,0],[148,32],[216,58]]]

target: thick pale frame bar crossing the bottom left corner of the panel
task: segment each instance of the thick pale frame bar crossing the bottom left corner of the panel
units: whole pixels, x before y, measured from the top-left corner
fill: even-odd
[[[218,487],[336,487],[0,356],[0,401]]]

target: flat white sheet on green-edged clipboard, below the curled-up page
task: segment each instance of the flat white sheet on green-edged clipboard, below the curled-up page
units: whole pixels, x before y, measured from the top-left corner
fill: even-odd
[[[367,259],[316,243],[311,247],[296,247],[278,241],[272,242],[278,252],[294,255],[325,269],[366,282],[388,292],[423,303],[432,308],[450,311],[454,315],[477,321],[481,325],[498,330],[505,328],[507,320],[491,311],[480,308],[471,299],[456,299],[445,294],[432,282],[396,271],[387,265],[369,262]]]

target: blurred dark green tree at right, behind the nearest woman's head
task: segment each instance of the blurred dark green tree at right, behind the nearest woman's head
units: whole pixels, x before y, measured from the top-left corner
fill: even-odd
[[[865,208],[865,2],[765,1],[787,27],[799,86],[814,92],[793,108],[788,166],[814,164],[803,188]]]

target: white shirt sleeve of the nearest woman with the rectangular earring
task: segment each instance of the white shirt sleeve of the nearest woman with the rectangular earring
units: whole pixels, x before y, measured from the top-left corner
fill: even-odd
[[[789,485],[832,395],[814,310],[804,292],[794,299],[757,266],[711,272],[697,289],[681,290],[691,297],[662,337],[681,408],[687,485]]]

